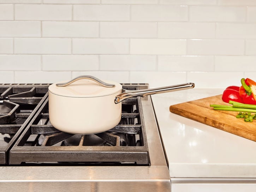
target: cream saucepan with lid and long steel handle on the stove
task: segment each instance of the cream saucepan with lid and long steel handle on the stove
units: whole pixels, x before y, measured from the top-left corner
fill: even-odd
[[[194,83],[143,90],[125,90],[122,85],[93,76],[79,76],[49,86],[49,119],[58,130],[72,134],[93,134],[117,126],[121,120],[121,102],[194,88]]]

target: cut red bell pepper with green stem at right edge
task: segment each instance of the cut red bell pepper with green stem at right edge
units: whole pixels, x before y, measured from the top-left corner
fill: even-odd
[[[256,105],[256,82],[249,78],[242,78],[241,83],[239,96],[242,97],[243,103]]]

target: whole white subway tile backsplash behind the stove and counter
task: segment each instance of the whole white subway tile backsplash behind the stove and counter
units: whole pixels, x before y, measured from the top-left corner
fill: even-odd
[[[256,0],[0,0],[0,83],[256,80]]]

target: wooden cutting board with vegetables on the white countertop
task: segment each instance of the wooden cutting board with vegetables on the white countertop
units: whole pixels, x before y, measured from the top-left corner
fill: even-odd
[[[256,141],[256,120],[244,122],[244,119],[236,118],[238,112],[214,110],[210,104],[229,105],[222,101],[221,95],[217,95],[172,105],[170,112]]]

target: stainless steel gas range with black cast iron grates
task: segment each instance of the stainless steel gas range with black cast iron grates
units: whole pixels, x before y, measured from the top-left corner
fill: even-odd
[[[123,101],[109,131],[69,134],[50,124],[48,86],[0,84],[1,191],[171,191],[150,96]]]

